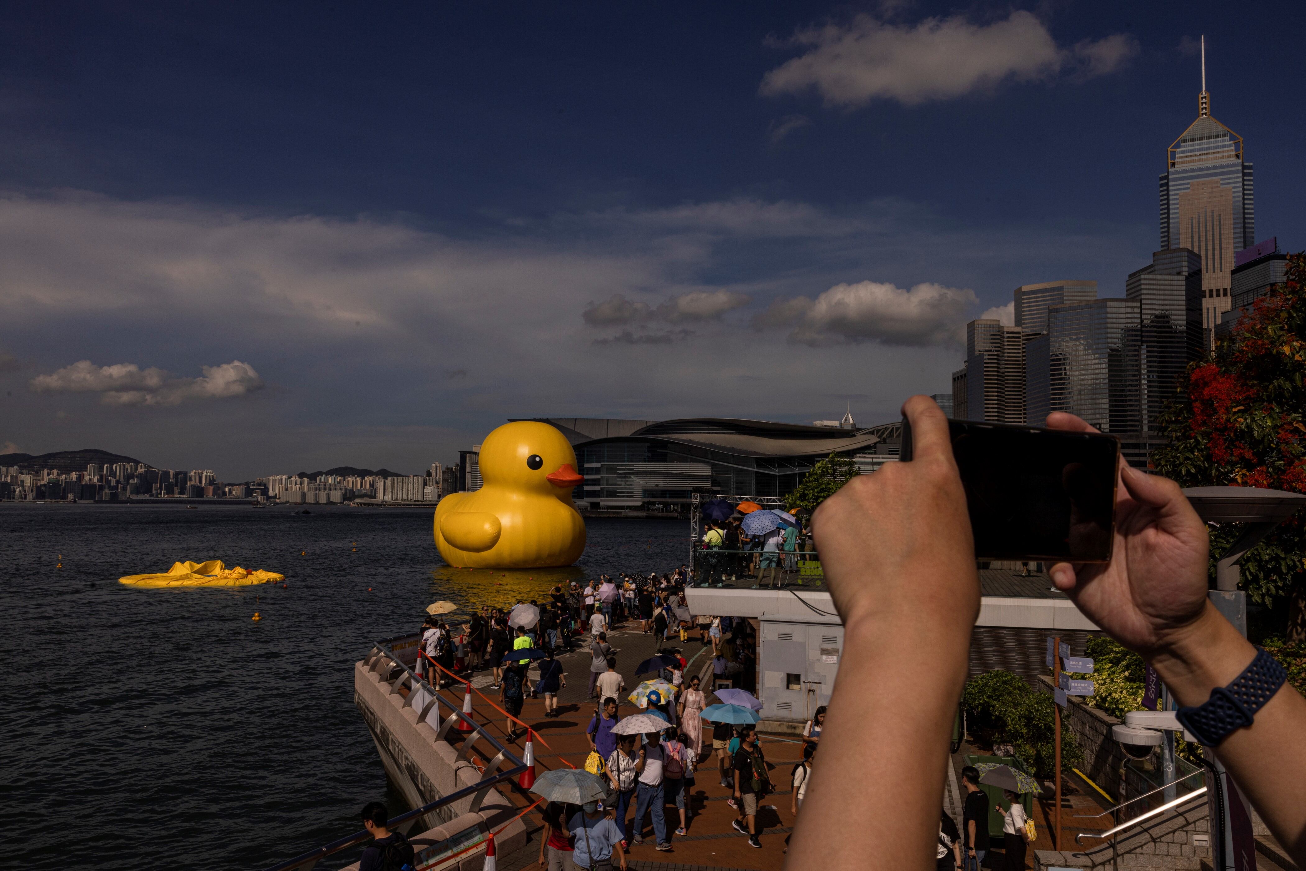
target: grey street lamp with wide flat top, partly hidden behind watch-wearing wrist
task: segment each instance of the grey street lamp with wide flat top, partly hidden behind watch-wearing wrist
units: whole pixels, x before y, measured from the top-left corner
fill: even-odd
[[[1216,563],[1216,586],[1208,595],[1216,609],[1246,637],[1247,594],[1238,589],[1238,564],[1269,530],[1306,505],[1306,495],[1260,487],[1190,487],[1183,495],[1208,524],[1245,525],[1238,541]],[[1174,733],[1166,731],[1165,735],[1165,743],[1173,753]],[[1249,857],[1255,862],[1250,807],[1213,748],[1204,747],[1202,755],[1213,781],[1208,784],[1208,795],[1212,797],[1211,846],[1215,867],[1217,871],[1249,867]]]

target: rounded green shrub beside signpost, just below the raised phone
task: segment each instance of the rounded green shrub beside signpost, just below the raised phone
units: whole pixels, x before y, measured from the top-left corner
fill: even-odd
[[[966,730],[986,743],[1010,743],[1016,755],[1033,767],[1037,777],[1051,777],[1057,767],[1053,697],[1037,692],[1010,671],[987,671],[966,682],[961,703]],[[1084,760],[1075,735],[1062,720],[1062,768]]]

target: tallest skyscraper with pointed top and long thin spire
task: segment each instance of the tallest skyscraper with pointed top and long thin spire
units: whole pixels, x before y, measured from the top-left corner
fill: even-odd
[[[1161,248],[1191,248],[1202,257],[1207,347],[1220,313],[1229,311],[1234,252],[1255,244],[1251,163],[1243,157],[1242,137],[1211,116],[1203,37],[1198,119],[1170,145],[1161,174]]]

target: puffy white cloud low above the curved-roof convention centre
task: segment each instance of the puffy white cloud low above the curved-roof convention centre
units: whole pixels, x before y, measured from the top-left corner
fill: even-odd
[[[968,289],[925,282],[901,290],[862,281],[835,285],[816,299],[778,300],[754,323],[789,325],[791,343],[812,347],[866,341],[923,347],[956,343],[957,326],[974,302]]]

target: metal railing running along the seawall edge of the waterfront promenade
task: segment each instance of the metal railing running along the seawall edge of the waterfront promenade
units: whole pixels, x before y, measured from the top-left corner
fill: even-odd
[[[417,710],[418,722],[426,722],[427,717],[430,717],[430,714],[435,712],[436,720],[440,722],[440,727],[436,730],[435,734],[436,740],[444,740],[449,734],[449,730],[457,726],[460,722],[466,722],[468,725],[471,726],[471,731],[458,733],[464,738],[462,738],[462,744],[458,747],[458,753],[454,757],[454,764],[460,761],[468,761],[468,755],[471,747],[478,740],[487,742],[490,747],[496,752],[495,756],[490,760],[490,763],[485,767],[485,769],[482,769],[481,772],[482,777],[475,784],[471,784],[470,786],[464,786],[462,789],[454,793],[449,793],[448,795],[444,795],[428,804],[423,804],[422,807],[407,811],[406,814],[390,817],[389,823],[387,824],[387,828],[405,833],[407,832],[409,828],[417,824],[423,816],[434,811],[438,811],[448,804],[462,800],[468,797],[471,797],[471,804],[468,808],[468,812],[475,814],[477,811],[481,810],[481,803],[485,800],[485,797],[490,793],[491,789],[494,789],[499,784],[513,780],[515,777],[520,776],[524,770],[526,770],[526,764],[520,757],[517,757],[516,753],[513,753],[509,748],[504,747],[499,742],[499,739],[496,739],[494,735],[486,731],[485,726],[482,726],[475,720],[471,720],[470,717],[464,714],[462,709],[458,705],[447,699],[440,697],[439,691],[434,686],[431,686],[430,682],[414,674],[413,670],[409,669],[406,665],[404,665],[404,662],[398,658],[398,656],[396,656],[394,652],[392,652],[387,646],[388,642],[406,640],[407,637],[410,636],[404,635],[404,636],[396,636],[393,639],[387,639],[385,641],[374,641],[372,649],[363,658],[363,666],[374,673],[380,671],[380,669],[384,667],[385,671],[381,679],[388,682],[390,689],[394,692],[400,692],[405,684],[409,686],[409,693],[407,697],[404,700],[402,708],[413,708],[414,710]],[[392,679],[390,675],[393,675],[396,671],[398,671],[398,676],[394,676]],[[414,699],[419,697],[419,693],[430,696],[430,699],[422,700],[422,706],[417,708],[413,705],[413,701]],[[440,720],[441,705],[449,709],[449,714],[444,717],[443,721]],[[503,765],[504,761],[511,763],[512,767],[500,772],[499,767]],[[372,836],[367,832],[367,829],[363,829],[362,832],[355,832],[354,834],[342,837],[338,841],[332,841],[330,844],[320,846],[316,850],[310,850],[308,853],[300,854],[294,859],[286,859],[285,862],[272,866],[266,871],[293,871],[299,868],[302,868],[303,871],[311,871],[313,866],[316,866],[326,857],[334,855],[353,846],[358,846],[359,844],[370,840],[371,837]]]

